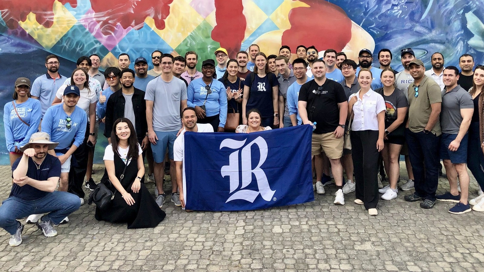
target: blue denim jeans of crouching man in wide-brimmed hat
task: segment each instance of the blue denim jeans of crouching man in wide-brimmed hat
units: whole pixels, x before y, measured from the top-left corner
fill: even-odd
[[[48,213],[44,218],[59,225],[62,219],[77,211],[80,206],[79,196],[67,192],[54,191],[34,200],[11,196],[0,206],[0,227],[13,235],[19,226],[16,219],[40,213]]]

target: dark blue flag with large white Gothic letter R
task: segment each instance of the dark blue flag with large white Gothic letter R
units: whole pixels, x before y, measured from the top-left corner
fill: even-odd
[[[185,208],[243,211],[314,200],[310,125],[185,133]]]

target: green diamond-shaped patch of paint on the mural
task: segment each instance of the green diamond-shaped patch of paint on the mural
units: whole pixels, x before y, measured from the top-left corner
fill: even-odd
[[[212,40],[212,26],[203,20],[198,27],[175,48],[178,54],[185,55],[187,51],[195,51],[198,54],[197,70],[200,71],[202,61],[215,60],[213,52],[220,47],[220,43]]]

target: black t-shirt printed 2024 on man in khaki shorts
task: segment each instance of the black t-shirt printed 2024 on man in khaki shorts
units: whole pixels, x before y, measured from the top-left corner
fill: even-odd
[[[299,101],[307,102],[306,110],[309,121],[316,121],[316,129],[313,133],[330,133],[338,127],[338,103],[347,101],[345,90],[340,83],[331,79],[326,79],[320,94],[316,94],[318,87],[319,85],[314,79],[304,83],[299,91]],[[314,107],[313,113],[311,113],[312,107]]]

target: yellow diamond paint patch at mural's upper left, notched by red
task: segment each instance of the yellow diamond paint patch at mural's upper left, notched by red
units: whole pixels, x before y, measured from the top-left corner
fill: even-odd
[[[18,22],[45,49],[54,46],[77,22],[76,18],[57,0],[54,2],[53,11],[54,23],[50,28],[37,23],[35,14],[31,12],[24,22]]]

